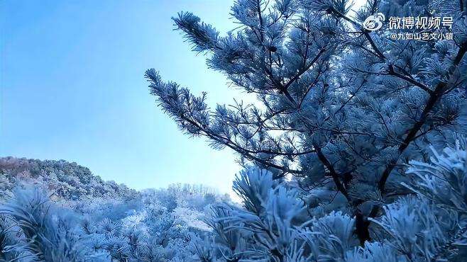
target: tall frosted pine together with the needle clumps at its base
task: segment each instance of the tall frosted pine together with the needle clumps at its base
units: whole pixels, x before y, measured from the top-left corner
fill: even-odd
[[[173,20],[256,96],[211,109],[155,69],[183,132],[238,154],[243,208],[214,207],[204,261],[461,261],[466,244],[466,1],[238,0],[226,34]],[[452,17],[452,40],[391,39],[368,16]],[[456,146],[451,146],[455,144]],[[443,154],[441,150],[445,150]],[[251,167],[256,166],[256,167]],[[213,251],[216,246],[216,251]]]

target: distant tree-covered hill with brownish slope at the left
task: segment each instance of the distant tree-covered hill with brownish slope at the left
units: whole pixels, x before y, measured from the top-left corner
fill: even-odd
[[[0,194],[15,186],[40,186],[64,200],[95,198],[129,200],[140,195],[136,190],[114,181],[103,181],[87,167],[65,160],[0,158]]]

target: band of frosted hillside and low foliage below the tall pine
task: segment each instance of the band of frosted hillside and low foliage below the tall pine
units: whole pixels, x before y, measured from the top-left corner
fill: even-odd
[[[70,200],[53,191],[60,188],[54,183],[62,182],[32,179],[26,170],[35,166],[36,174],[55,170],[74,177],[77,170],[88,169],[66,161],[8,158],[4,171],[10,173],[2,175],[4,188],[10,189],[3,191],[0,205],[0,261],[270,257],[291,262],[461,262],[467,256],[466,144],[460,138],[443,152],[433,151],[428,162],[411,161],[402,183],[410,193],[383,203],[384,214],[371,220],[373,240],[363,246],[355,237],[358,221],[339,207],[344,199],[324,190],[307,195],[264,169],[249,168],[236,177],[234,190],[243,206],[211,188],[189,185],[143,192],[118,186],[97,197]],[[100,181],[90,173],[87,178]],[[123,191],[132,197],[117,193]],[[109,198],[112,194],[115,198]],[[329,201],[320,202],[326,195]]]

